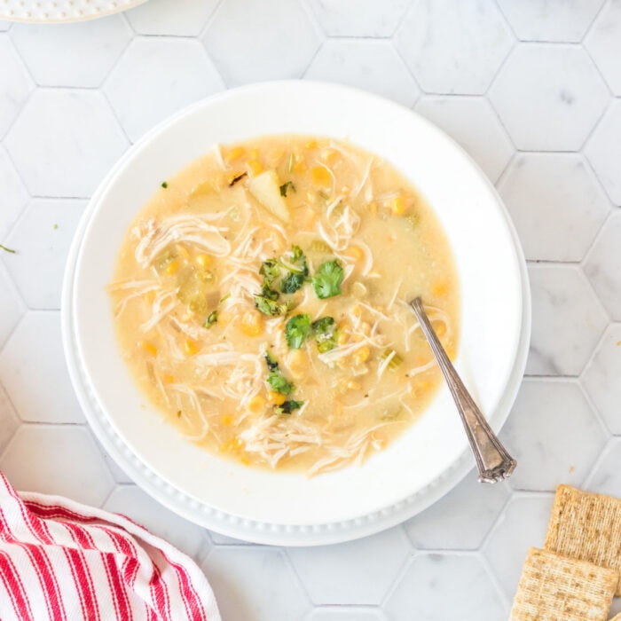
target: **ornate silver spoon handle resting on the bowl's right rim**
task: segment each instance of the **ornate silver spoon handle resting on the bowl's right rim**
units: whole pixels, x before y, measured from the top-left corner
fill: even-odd
[[[422,332],[427,337],[437,364],[444,375],[444,380],[446,380],[451,390],[455,405],[457,405],[461,421],[464,424],[464,428],[466,428],[468,442],[472,452],[475,454],[479,481],[482,483],[496,483],[507,476],[511,476],[517,461],[500,444],[498,437],[491,430],[483,413],[477,407],[474,399],[470,397],[468,390],[464,386],[463,381],[461,381],[457,371],[455,371],[455,367],[452,366],[451,360],[446,355],[442,343],[431,326],[427,313],[422,306],[421,298],[415,298],[410,305],[421,324]]]

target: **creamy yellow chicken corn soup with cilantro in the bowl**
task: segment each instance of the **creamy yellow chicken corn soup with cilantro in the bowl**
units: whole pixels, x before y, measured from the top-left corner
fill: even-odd
[[[388,162],[328,138],[216,147],[130,226],[109,287],[145,397],[210,451],[314,475],[408,428],[441,381],[459,284],[433,212]]]

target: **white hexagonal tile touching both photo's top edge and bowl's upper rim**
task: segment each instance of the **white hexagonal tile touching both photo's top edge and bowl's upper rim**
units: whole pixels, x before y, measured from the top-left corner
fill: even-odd
[[[301,0],[224,0],[202,41],[228,86],[303,75],[321,36]]]

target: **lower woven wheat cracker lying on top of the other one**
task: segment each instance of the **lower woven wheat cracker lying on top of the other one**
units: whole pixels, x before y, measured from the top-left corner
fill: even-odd
[[[531,547],[509,621],[606,621],[618,573]]]

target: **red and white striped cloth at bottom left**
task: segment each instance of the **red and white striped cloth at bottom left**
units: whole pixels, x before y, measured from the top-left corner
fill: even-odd
[[[13,490],[0,472],[2,621],[220,621],[198,566],[127,517]]]

